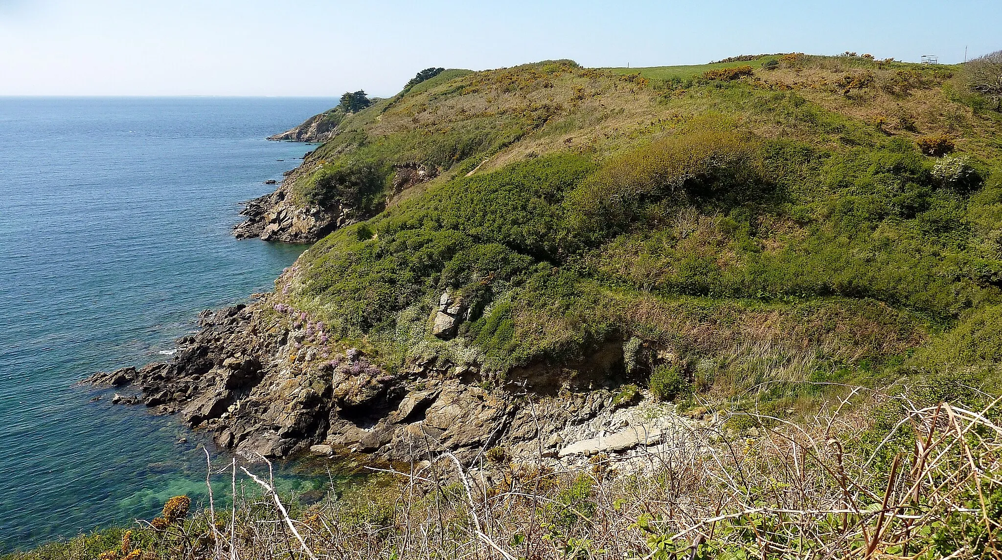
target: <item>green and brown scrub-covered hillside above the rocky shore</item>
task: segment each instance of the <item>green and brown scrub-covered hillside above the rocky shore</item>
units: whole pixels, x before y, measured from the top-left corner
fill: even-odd
[[[447,71],[316,152],[305,199],[386,209],[280,284],[394,371],[439,359],[494,384],[615,385],[670,370],[705,398],[982,376],[937,349],[998,344],[1002,119],[986,107],[960,67],[864,57]],[[404,164],[437,178],[392,192]],[[440,340],[446,290],[468,312]]]

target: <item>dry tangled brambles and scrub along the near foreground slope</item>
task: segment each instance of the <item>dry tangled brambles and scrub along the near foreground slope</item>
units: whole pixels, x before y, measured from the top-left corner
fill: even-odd
[[[554,473],[503,465],[501,451],[487,454],[493,468],[445,455],[302,506],[234,461],[229,511],[177,522],[165,508],[165,526],[139,522],[124,548],[109,531],[14,558],[1002,556],[998,401],[973,411],[860,393],[796,424],[727,421],[752,437],[695,428],[631,475],[602,456]],[[238,488],[241,470],[263,495]]]

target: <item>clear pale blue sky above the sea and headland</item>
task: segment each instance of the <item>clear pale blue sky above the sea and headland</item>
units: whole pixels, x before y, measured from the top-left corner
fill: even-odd
[[[1002,1],[0,0],[0,95],[387,96],[429,66],[1002,49]]]

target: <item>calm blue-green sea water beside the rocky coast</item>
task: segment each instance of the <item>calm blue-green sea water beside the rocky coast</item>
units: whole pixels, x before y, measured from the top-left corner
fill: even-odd
[[[200,438],[74,383],[273,286],[303,247],[230,227],[312,149],[264,138],[336,103],[0,98],[0,552],[203,490]]]

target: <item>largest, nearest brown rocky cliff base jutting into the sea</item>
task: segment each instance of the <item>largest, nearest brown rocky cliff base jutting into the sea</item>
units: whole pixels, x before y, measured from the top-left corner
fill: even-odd
[[[132,391],[115,400],[176,414],[222,448],[266,457],[344,450],[406,461],[449,451],[472,462],[500,446],[513,457],[555,458],[567,433],[598,433],[586,423],[630,404],[606,389],[556,397],[516,383],[491,388],[477,369],[442,359],[391,374],[273,299],[203,313],[170,362],[89,381]],[[631,442],[616,445],[645,443]]]

